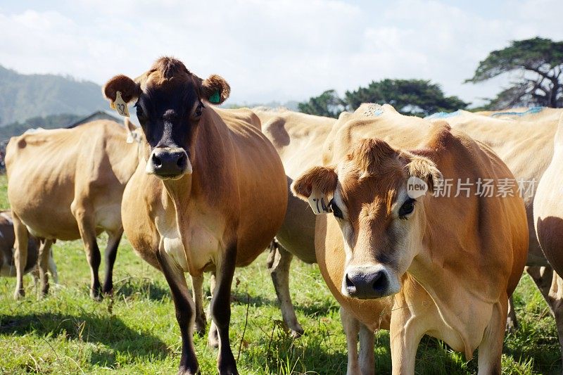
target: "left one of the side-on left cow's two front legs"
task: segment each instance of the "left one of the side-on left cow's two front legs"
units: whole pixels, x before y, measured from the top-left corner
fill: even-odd
[[[75,202],[70,205],[72,215],[76,218],[78,229],[80,230],[80,237],[84,243],[84,251],[90,266],[90,297],[94,300],[101,299],[101,286],[99,279],[99,268],[101,263],[100,249],[96,243],[96,230],[94,221],[87,215],[86,209],[77,208]]]

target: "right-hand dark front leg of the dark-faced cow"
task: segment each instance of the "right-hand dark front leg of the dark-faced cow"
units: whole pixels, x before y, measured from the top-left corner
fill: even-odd
[[[230,246],[217,264],[217,285],[211,298],[211,318],[219,333],[219,357],[217,367],[220,375],[239,374],[229,340],[231,321],[231,284],[236,264],[236,247]]]

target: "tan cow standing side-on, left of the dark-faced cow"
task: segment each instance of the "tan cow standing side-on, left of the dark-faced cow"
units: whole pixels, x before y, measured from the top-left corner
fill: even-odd
[[[99,120],[12,137],[6,147],[6,171],[15,230],[15,298],[24,294],[28,229],[46,239],[43,267],[39,267],[42,293],[49,290],[45,265],[54,239],[84,242],[92,298],[113,290],[113,263],[123,233],[121,198],[139,152],[137,143],[125,142],[132,127],[130,122],[124,129],[116,122]],[[102,231],[109,239],[106,279],[100,288],[96,236]]]

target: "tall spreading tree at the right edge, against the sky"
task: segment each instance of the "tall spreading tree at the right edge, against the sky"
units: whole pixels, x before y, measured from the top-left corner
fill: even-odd
[[[516,73],[511,86],[490,99],[488,107],[563,107],[563,42],[535,37],[513,41],[510,46],[488,54],[472,78],[478,83],[507,73]]]

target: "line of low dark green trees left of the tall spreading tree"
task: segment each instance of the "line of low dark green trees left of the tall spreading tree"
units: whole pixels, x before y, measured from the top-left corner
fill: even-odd
[[[346,91],[339,98],[334,90],[324,91],[320,96],[299,103],[303,113],[328,117],[338,117],[343,110],[355,110],[362,103],[388,103],[405,115],[430,115],[441,111],[466,108],[457,96],[444,96],[438,84],[427,80],[381,80],[356,91]]]

